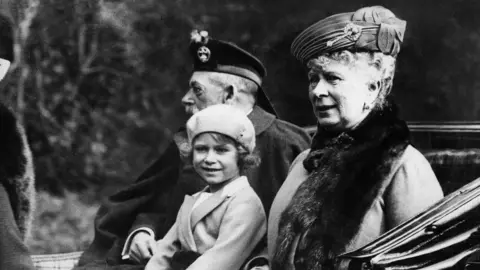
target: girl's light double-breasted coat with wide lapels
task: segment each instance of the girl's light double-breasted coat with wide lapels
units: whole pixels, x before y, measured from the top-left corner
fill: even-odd
[[[157,252],[146,270],[171,269],[171,258],[182,250],[201,254],[189,270],[234,270],[244,264],[266,233],[262,202],[246,177],[195,205],[204,192],[185,196],[175,224],[157,242]]]

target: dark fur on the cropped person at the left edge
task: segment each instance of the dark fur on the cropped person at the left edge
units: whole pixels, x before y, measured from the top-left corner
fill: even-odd
[[[15,221],[25,240],[35,206],[33,160],[23,127],[3,104],[0,104],[0,143],[0,183],[8,192]]]

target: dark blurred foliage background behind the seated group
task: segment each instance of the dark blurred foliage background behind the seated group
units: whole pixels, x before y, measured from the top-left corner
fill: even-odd
[[[305,126],[314,119],[304,69],[289,53],[292,39],[328,15],[378,4],[408,22],[393,90],[404,118],[480,119],[475,0],[0,1],[16,27],[16,61],[0,98],[27,127],[44,191],[38,226],[51,222],[44,212],[65,219],[74,205],[84,213],[80,201],[98,203],[157,157],[186,119],[180,98],[191,71],[186,51],[193,28],[262,59],[280,117]],[[49,206],[50,194],[67,200]],[[86,217],[69,218],[59,222],[83,224],[79,234],[87,230]],[[37,240],[50,236],[43,232]]]

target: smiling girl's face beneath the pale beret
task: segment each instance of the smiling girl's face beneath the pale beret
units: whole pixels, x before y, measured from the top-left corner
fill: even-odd
[[[235,142],[220,136],[203,133],[193,142],[193,168],[211,189],[240,175]]]

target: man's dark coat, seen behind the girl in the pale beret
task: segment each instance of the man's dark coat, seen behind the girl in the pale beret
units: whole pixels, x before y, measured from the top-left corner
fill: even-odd
[[[277,119],[255,107],[248,115],[256,131],[257,150],[262,160],[247,175],[269,212],[276,192],[285,180],[291,162],[310,146],[303,129]],[[95,219],[95,238],[82,255],[76,269],[143,269],[121,260],[129,232],[149,227],[161,238],[175,222],[185,194],[198,192],[205,183],[190,165],[182,162],[176,136],[169,147],[129,187],[111,196],[101,206]]]

